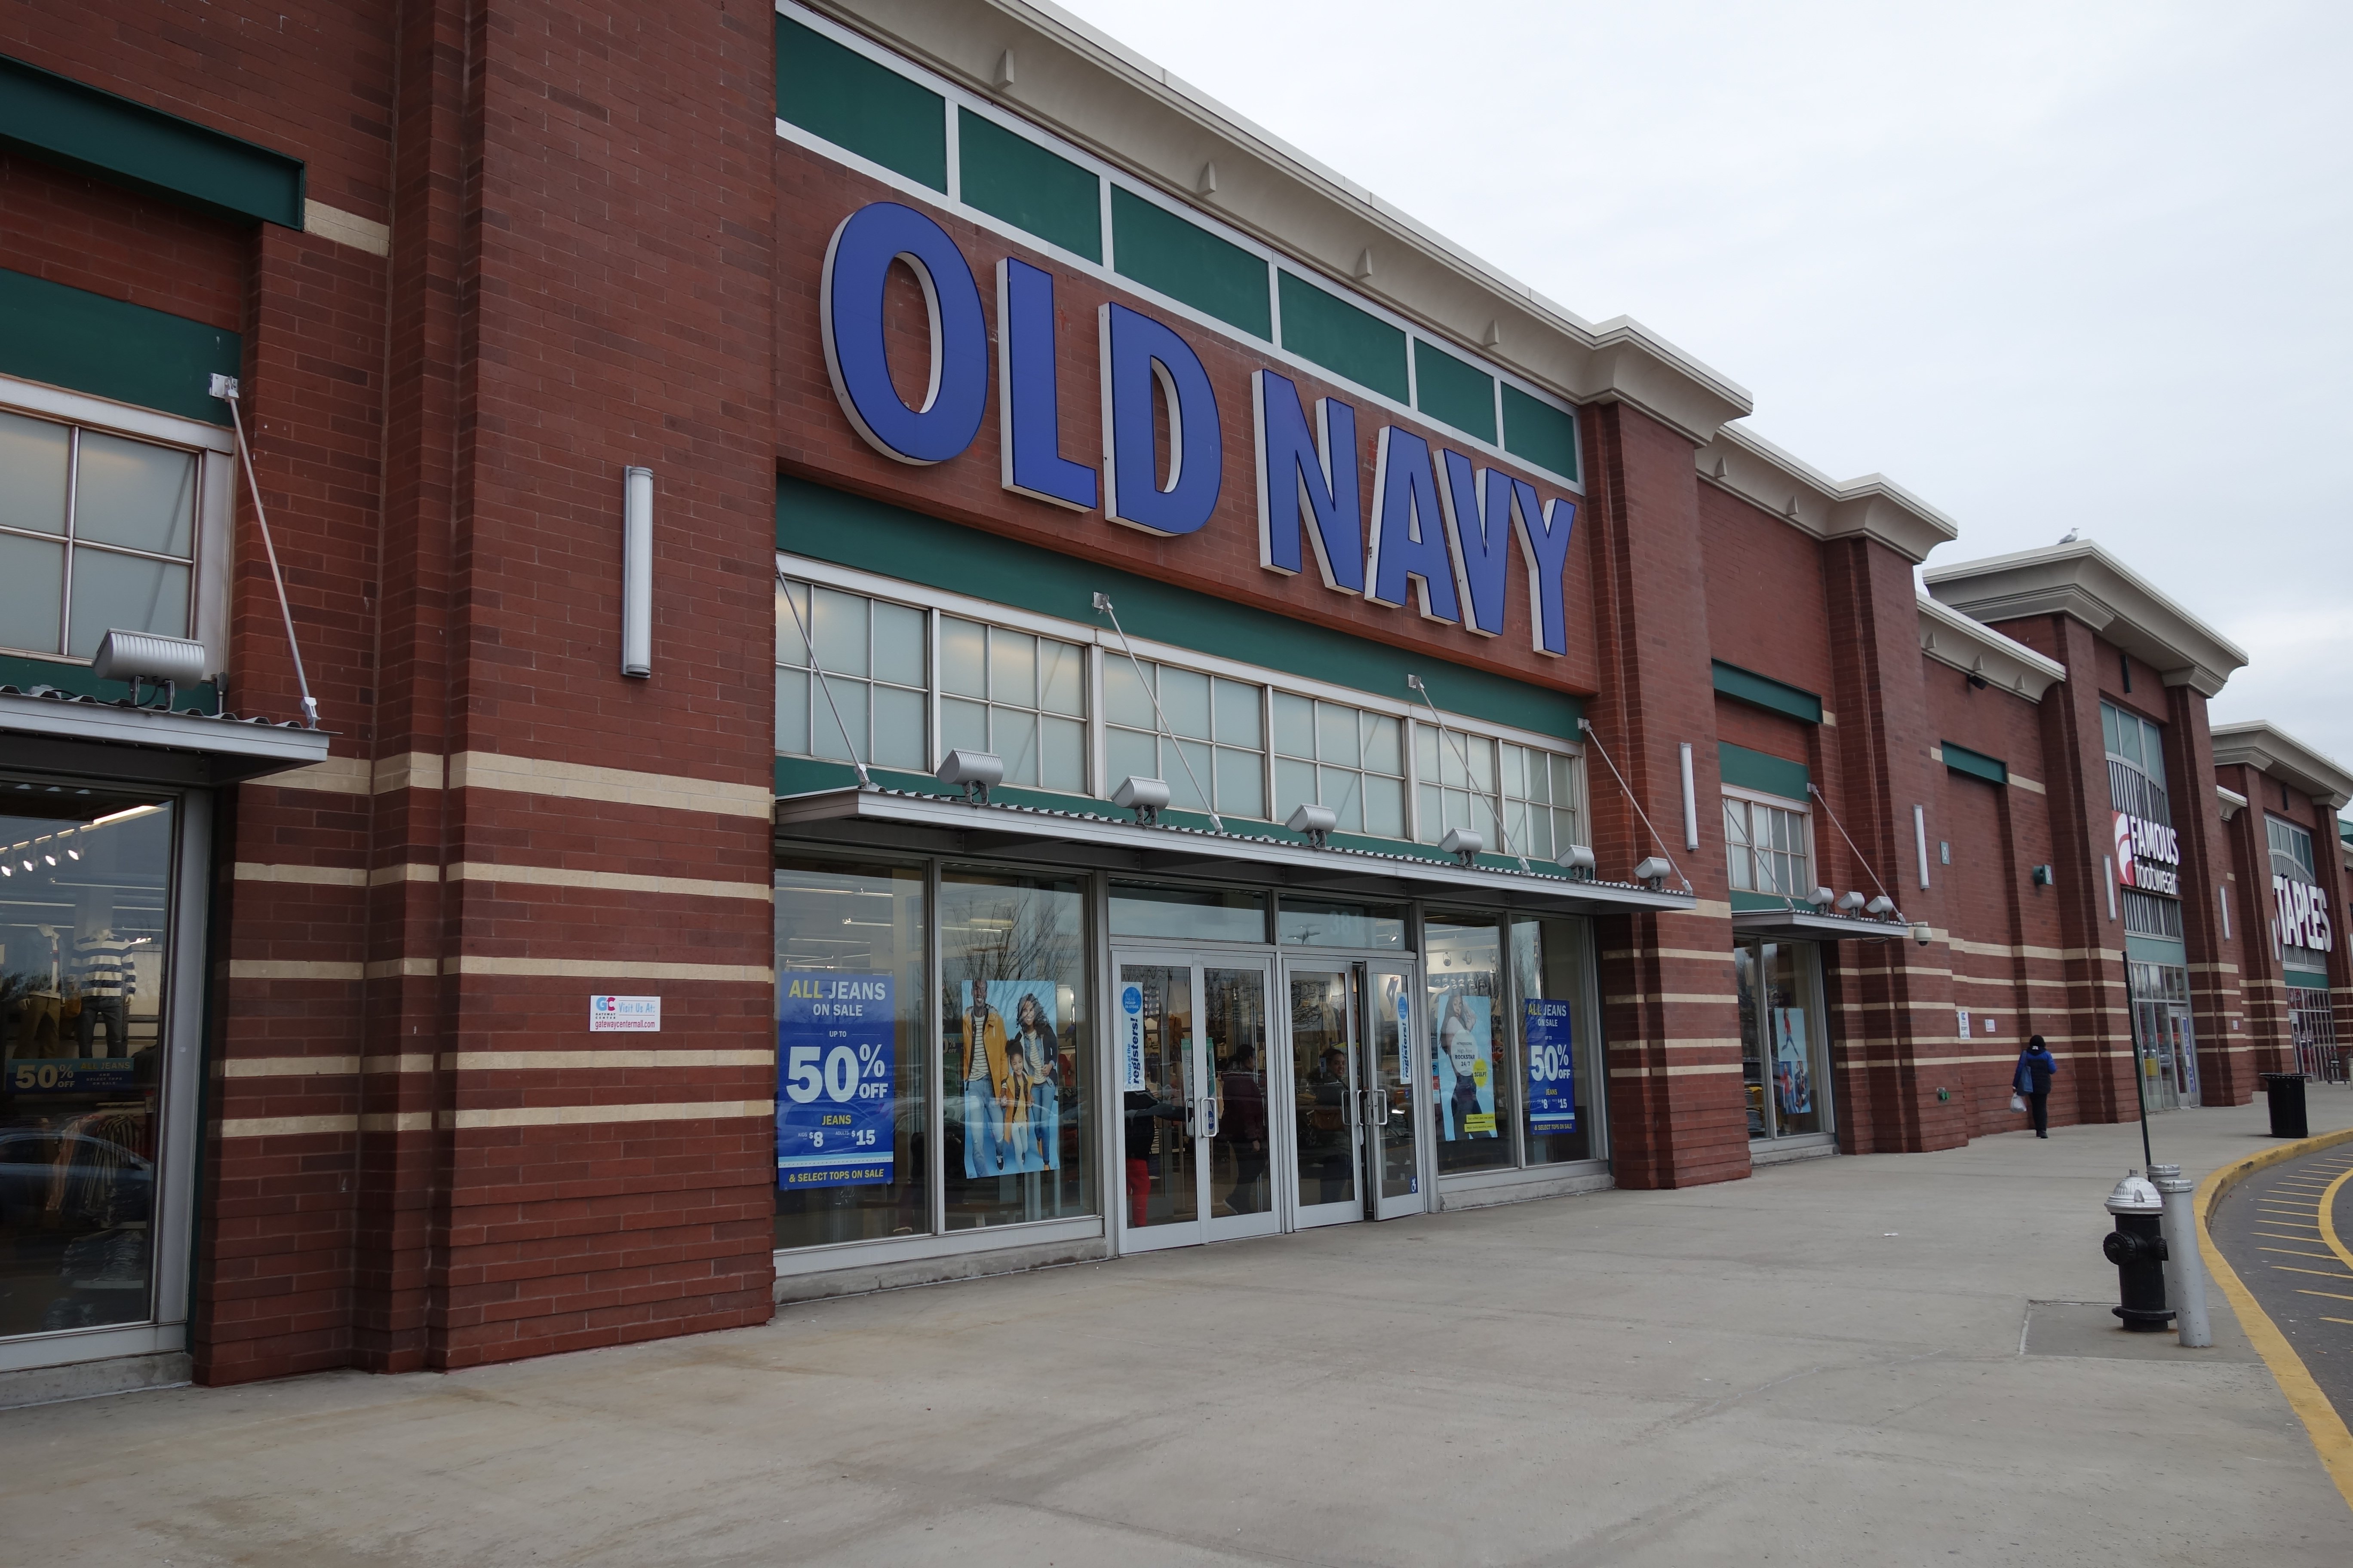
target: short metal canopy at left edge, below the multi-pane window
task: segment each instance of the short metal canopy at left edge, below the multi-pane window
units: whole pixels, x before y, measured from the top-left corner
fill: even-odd
[[[327,731],[268,719],[165,712],[92,696],[0,689],[12,766],[141,783],[228,785],[327,759]]]

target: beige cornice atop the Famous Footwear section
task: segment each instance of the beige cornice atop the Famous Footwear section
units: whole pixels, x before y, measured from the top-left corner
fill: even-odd
[[[2089,538],[1922,571],[1944,604],[2000,625],[2028,616],[2075,616],[2167,686],[2224,689],[2247,651],[2181,609]]]

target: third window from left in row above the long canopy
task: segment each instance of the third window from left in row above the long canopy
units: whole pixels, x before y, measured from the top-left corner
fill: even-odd
[[[1104,661],[1106,788],[1127,776],[1158,778],[1179,811],[1266,820],[1266,724],[1259,686],[1221,675]],[[1153,712],[1167,719],[1167,733]],[[1174,736],[1174,738],[1169,738]],[[1181,762],[1179,762],[1181,757]],[[1209,799],[1202,799],[1202,792]]]

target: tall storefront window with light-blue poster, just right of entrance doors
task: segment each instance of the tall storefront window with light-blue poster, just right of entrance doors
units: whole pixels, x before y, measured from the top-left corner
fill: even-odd
[[[1504,1018],[1504,952],[1497,924],[1421,922],[1428,978],[1431,1126],[1438,1173],[1513,1164],[1518,1114],[1511,1030]]]

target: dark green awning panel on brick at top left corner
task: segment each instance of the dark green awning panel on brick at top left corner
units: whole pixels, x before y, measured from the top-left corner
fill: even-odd
[[[299,158],[5,54],[0,146],[205,212],[301,228]]]

